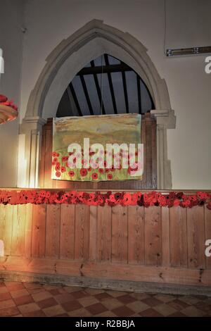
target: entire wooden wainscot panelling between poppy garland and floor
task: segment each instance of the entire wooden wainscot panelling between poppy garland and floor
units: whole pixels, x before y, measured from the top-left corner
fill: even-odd
[[[205,206],[0,205],[1,274],[211,286]],[[83,278],[84,279],[84,278]]]

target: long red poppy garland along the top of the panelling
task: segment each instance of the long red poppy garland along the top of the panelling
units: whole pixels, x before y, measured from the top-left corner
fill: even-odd
[[[22,191],[0,190],[0,204],[87,204],[89,206],[160,206],[191,208],[203,206],[211,210],[211,194],[197,192],[194,195],[183,192],[77,192],[77,191],[47,191],[32,189]]]

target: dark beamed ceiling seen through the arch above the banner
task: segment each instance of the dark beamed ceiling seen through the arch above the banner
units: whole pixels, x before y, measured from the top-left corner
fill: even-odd
[[[141,77],[127,64],[103,54],[82,68],[70,82],[56,116],[143,114],[154,108]]]

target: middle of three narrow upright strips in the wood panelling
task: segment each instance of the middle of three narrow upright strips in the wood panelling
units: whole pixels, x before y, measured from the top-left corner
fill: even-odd
[[[90,206],[89,259],[91,261],[96,261],[97,224],[98,224],[98,206]]]

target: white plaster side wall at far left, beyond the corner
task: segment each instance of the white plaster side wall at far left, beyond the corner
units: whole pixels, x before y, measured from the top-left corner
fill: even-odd
[[[4,51],[5,73],[1,75],[0,94],[20,108],[20,69],[22,58],[22,0],[0,0],[0,47]],[[19,119],[0,125],[0,187],[15,187]]]

